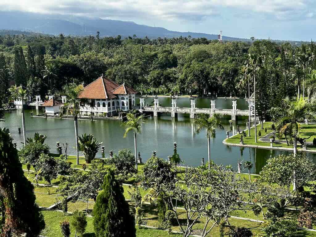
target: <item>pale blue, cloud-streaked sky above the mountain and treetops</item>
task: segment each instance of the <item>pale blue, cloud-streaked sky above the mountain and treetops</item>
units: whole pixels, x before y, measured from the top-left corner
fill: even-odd
[[[316,38],[315,0],[0,0],[0,9],[134,21],[182,32],[222,30],[239,38]]]

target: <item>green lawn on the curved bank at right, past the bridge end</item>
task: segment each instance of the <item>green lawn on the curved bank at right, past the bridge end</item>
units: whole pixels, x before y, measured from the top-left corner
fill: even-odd
[[[248,130],[246,130],[247,137],[244,137],[244,144],[245,145],[254,145],[254,146],[266,146],[270,147],[270,142],[261,142],[259,139],[264,137],[266,134],[272,132],[271,128],[272,122],[265,122],[263,124],[264,128],[267,128],[267,133],[264,132],[264,129],[261,129],[261,125],[257,125],[257,139],[258,142],[255,142],[255,129],[250,129],[250,137],[248,137]],[[261,136],[258,136],[258,132],[261,131]],[[306,138],[306,141],[312,142],[313,138],[316,137],[316,125],[314,124],[301,124],[301,137]],[[234,137],[228,138],[225,141],[228,143],[239,144],[241,134],[236,134]],[[310,137],[312,136],[312,137]],[[269,136],[270,137],[270,136]],[[285,137],[282,137],[283,141],[285,141]],[[293,148],[293,145],[287,145],[286,143],[273,143],[273,147],[285,147],[285,148]],[[298,148],[301,148],[300,143],[298,143]],[[307,149],[316,149],[314,146],[307,146]]]

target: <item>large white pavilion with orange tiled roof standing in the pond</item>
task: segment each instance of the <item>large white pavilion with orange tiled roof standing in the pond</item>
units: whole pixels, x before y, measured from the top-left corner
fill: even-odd
[[[111,116],[116,114],[118,109],[134,109],[136,93],[136,90],[124,83],[119,85],[102,75],[84,87],[80,93],[80,114],[98,116],[107,113]]]

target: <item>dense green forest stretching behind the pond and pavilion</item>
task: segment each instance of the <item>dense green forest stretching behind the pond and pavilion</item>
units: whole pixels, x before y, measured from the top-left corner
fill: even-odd
[[[142,94],[248,96],[245,61],[262,55],[256,78],[258,110],[295,96],[298,85],[307,95],[316,68],[312,44],[293,47],[268,40],[253,43],[205,38],[150,40],[96,36],[0,36],[1,94],[10,84],[22,84],[33,96],[53,94],[66,84],[87,85],[101,74],[125,82]],[[249,78],[248,78],[249,79]],[[253,81],[250,93],[253,92]],[[269,101],[269,102],[268,102]]]

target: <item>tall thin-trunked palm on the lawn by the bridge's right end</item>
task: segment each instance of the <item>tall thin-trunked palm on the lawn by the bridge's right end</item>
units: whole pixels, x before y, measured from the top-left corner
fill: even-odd
[[[245,62],[246,72],[248,76],[253,77],[253,106],[254,106],[254,121],[255,121],[255,142],[257,143],[257,118],[256,118],[256,75],[261,70],[264,56],[258,54],[248,54],[248,58]],[[250,101],[249,101],[250,102]],[[250,126],[250,124],[249,124]]]

